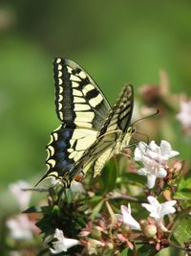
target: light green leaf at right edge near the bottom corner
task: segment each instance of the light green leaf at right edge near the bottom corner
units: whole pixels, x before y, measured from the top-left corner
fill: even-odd
[[[172,238],[174,237],[180,245],[183,245],[184,242],[187,242],[191,238],[190,225],[191,216],[188,214],[181,215],[174,223],[172,228]]]

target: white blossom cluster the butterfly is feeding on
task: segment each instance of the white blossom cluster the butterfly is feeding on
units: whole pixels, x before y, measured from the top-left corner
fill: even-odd
[[[156,178],[162,178],[167,175],[164,169],[169,158],[179,154],[178,151],[172,151],[171,145],[161,140],[160,146],[155,141],[151,141],[149,145],[145,142],[139,142],[134,155],[135,160],[142,162],[143,168],[138,170],[138,175],[147,175],[147,186],[153,188]]]

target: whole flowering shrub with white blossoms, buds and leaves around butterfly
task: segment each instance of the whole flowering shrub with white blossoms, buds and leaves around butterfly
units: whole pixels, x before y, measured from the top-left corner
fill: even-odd
[[[145,105],[159,108],[160,125],[168,127],[162,117],[168,108],[176,109],[178,98],[170,95],[165,72],[160,72],[158,86],[147,84],[139,92]],[[180,113],[176,113],[174,117],[188,134],[190,102],[180,102]],[[157,128],[150,131],[151,137],[157,137]],[[119,158],[117,168],[111,160],[96,178],[88,173],[82,183],[72,182],[70,189],[64,189],[61,182],[46,187],[48,200],[28,209],[28,214],[23,211],[31,199],[32,192],[26,190],[29,184],[11,184],[10,191],[22,211],[6,221],[11,255],[36,255],[39,251],[41,255],[120,255],[128,250],[142,255],[146,246],[154,255],[164,247],[175,246],[175,241],[178,248],[189,253],[191,232],[181,228],[181,216],[190,207],[191,181],[189,176],[183,177],[183,163],[171,160],[179,151],[166,140],[159,145],[152,140],[140,141],[134,153],[130,148],[126,153],[130,155],[127,161]],[[186,220],[182,226],[189,226]],[[35,241],[39,232],[43,244]],[[180,232],[183,240],[177,235]]]

